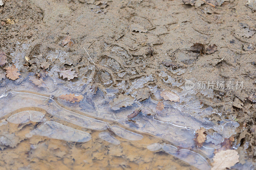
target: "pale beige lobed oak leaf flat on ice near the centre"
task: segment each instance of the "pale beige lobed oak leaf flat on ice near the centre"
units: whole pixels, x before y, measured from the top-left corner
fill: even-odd
[[[134,98],[131,95],[119,94],[118,98],[113,99],[109,104],[113,110],[119,110],[120,107],[132,106],[133,102]]]

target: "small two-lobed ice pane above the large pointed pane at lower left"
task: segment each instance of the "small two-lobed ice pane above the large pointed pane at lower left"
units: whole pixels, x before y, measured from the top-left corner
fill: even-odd
[[[20,123],[26,123],[29,121],[42,122],[43,118],[44,118],[44,114],[42,114],[41,112],[28,110],[28,111],[16,113],[15,115],[8,117],[7,121],[15,124],[20,124]]]

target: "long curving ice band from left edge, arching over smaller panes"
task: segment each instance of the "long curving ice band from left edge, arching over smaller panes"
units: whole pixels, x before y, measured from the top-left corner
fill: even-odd
[[[51,98],[46,99],[47,97],[25,92],[9,93],[5,98],[0,98],[0,105],[1,107],[8,106],[9,101],[12,101],[13,105],[12,107],[3,107],[0,110],[0,117],[22,107],[39,107],[46,110],[52,116],[84,128],[93,130],[106,130],[108,128],[103,121],[71,112],[60,107]]]

